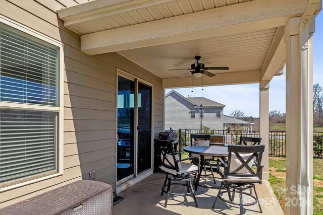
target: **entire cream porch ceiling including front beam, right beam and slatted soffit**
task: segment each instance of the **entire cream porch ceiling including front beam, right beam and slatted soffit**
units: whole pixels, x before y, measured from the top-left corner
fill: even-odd
[[[189,77],[176,78],[189,70],[169,69],[190,68],[196,55],[207,67],[230,68],[210,70],[230,75],[209,79],[209,85],[247,76],[250,83],[271,80],[285,61],[284,26],[306,5],[306,0],[95,0],[58,15],[81,35],[85,53],[116,51],[183,87]]]

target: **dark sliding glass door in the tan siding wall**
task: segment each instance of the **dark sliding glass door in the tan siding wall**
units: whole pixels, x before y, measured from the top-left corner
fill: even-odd
[[[118,76],[117,103],[117,181],[120,181],[151,169],[152,87]]]

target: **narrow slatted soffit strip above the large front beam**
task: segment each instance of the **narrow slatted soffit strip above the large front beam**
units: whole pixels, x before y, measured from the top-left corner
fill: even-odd
[[[249,1],[253,0],[177,0],[159,1],[161,2],[160,4],[158,4],[158,0],[152,0],[150,2],[155,3],[141,3],[146,4],[147,7],[140,6],[140,1],[137,1],[137,6],[130,7],[129,1],[112,0],[110,1],[111,5],[109,7],[111,9],[108,10],[109,12],[103,13],[101,12],[103,9],[94,9],[97,10],[96,16],[93,16],[91,20],[82,21],[82,17],[86,16],[87,12],[62,19],[66,22],[65,26],[67,28],[79,35],[84,35]],[[127,10],[125,12],[122,12],[123,10],[114,10],[117,3],[124,4]],[[74,19],[77,19],[78,22],[73,22]]]

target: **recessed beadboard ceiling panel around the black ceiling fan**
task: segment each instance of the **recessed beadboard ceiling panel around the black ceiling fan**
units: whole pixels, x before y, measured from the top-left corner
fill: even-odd
[[[151,71],[160,78],[177,78],[189,70],[194,56],[201,56],[205,66],[228,66],[226,70],[209,70],[213,74],[260,70],[276,28],[263,31],[208,37],[178,43],[149,46],[125,51],[121,55]],[[138,54],[139,53],[139,54]]]

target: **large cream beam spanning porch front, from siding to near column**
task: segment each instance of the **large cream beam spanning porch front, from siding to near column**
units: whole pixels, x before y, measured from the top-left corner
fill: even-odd
[[[81,36],[81,50],[100,54],[275,28],[286,25],[289,16],[302,14],[306,3],[257,0],[90,33]]]

